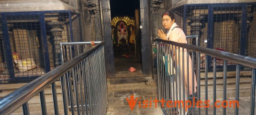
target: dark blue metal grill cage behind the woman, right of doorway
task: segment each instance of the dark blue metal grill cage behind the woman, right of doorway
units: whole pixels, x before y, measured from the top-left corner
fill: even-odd
[[[255,6],[256,2],[184,4],[172,11],[186,35],[198,35],[199,46],[256,57]],[[196,44],[196,39],[188,39],[188,43]],[[201,67],[205,67],[204,58],[201,55]],[[223,60],[217,61],[217,67],[222,67]]]

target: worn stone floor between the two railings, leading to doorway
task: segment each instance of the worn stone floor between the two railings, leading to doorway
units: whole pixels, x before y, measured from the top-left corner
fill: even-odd
[[[115,80],[115,81],[112,81]],[[124,83],[124,81],[129,83]],[[155,102],[150,101],[157,98],[157,84],[151,77],[133,77],[133,78],[118,78],[108,79],[108,108],[107,114],[163,114],[162,109]],[[131,110],[130,104],[135,102],[132,98],[138,98],[136,104]],[[143,101],[148,100],[148,106],[143,104]],[[129,101],[129,102],[128,102]],[[140,105],[141,103],[141,105]],[[143,106],[145,105],[145,106]]]

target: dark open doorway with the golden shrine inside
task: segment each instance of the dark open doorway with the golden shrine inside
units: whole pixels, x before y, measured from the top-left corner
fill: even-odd
[[[142,76],[139,10],[140,0],[110,0],[116,77]],[[129,72],[130,67],[136,71]]]

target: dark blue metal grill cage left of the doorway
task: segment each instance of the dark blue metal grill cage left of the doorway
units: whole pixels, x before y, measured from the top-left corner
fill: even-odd
[[[0,80],[33,79],[61,64],[60,42],[81,41],[70,10],[0,12]]]

